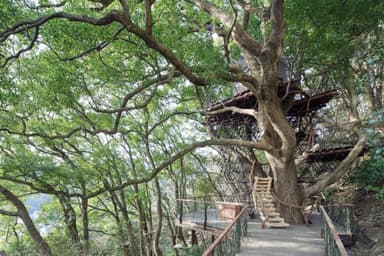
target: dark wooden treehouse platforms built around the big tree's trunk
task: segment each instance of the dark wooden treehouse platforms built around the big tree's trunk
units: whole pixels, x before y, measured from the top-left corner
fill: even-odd
[[[281,99],[283,111],[291,127],[296,130],[298,152],[305,152],[306,163],[309,170],[302,172],[299,181],[314,181],[314,177],[306,179],[304,174],[320,173],[334,169],[353,148],[357,141],[356,136],[347,136],[351,133],[350,127],[334,126],[315,129],[312,117],[318,110],[325,107],[328,102],[338,96],[337,90],[325,91],[315,95],[309,95],[300,88],[300,81],[294,80],[290,83],[280,83],[278,96]],[[214,129],[253,127],[253,132],[258,137],[258,129],[254,117],[234,113],[232,111],[221,111],[225,107],[238,107],[241,109],[257,109],[257,99],[249,90],[234,95],[231,98],[215,102],[205,108],[208,113],[207,123]],[[313,151],[308,151],[311,146],[320,146]]]

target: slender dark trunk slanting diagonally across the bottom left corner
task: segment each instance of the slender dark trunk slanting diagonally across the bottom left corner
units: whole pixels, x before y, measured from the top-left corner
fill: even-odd
[[[29,215],[27,208],[15,196],[11,191],[0,185],[0,193],[8,200],[10,201],[17,209],[17,215],[22,219],[24,222],[25,227],[28,230],[28,233],[31,235],[33,242],[35,243],[36,247],[39,249],[42,256],[51,256],[51,249],[48,246],[48,243],[44,240],[44,238],[40,235],[39,230],[36,228],[35,224],[33,223],[33,220],[31,216]]]

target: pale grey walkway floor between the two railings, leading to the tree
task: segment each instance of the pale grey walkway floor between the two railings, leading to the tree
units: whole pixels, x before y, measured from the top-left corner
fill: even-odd
[[[287,229],[261,229],[260,219],[248,222],[248,236],[237,256],[324,256],[320,236],[320,215],[310,216],[311,225],[291,225]]]

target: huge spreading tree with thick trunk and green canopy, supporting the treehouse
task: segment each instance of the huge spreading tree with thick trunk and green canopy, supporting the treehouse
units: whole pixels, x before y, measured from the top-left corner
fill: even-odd
[[[43,177],[44,170],[27,172],[28,166],[21,166],[19,173],[26,178],[13,179],[10,168],[4,168],[2,177],[60,195],[68,211],[72,211],[65,206],[71,203],[68,198],[78,198],[84,254],[88,251],[89,200],[108,193],[114,207],[123,210],[122,216],[114,215],[116,222],[125,217],[126,229],[130,229],[124,215],[129,207],[119,204],[124,194],[116,192],[133,186],[138,193],[135,186],[154,180],[198,147],[225,145],[232,150],[234,145],[265,151],[277,195],[288,205],[301,205],[306,196],[320,192],[343,174],[365,140],[337,172],[307,191],[300,190],[295,131],[277,96],[277,63],[285,36],[282,0],[3,1],[0,7],[2,151],[13,158],[20,154],[6,143],[24,144],[18,150],[49,155],[73,172],[52,183]],[[208,23],[220,27],[222,47],[211,42]],[[249,74],[230,65],[239,51]],[[258,108],[224,111],[255,118],[259,141],[204,140],[207,135],[199,124],[203,102],[215,92],[229,95],[233,82],[253,92]],[[174,146],[162,143],[174,136],[170,131],[175,123],[169,121],[177,122],[185,133],[170,143]],[[113,153],[107,144],[115,147]],[[128,160],[122,152],[130,156]],[[118,157],[112,159],[113,155]],[[72,181],[73,186],[66,185]],[[154,188],[158,188],[157,180]],[[135,207],[140,211],[140,204]],[[290,222],[302,221],[299,211],[288,214],[287,207],[281,211]],[[70,225],[68,221],[69,229]],[[72,238],[78,243],[74,228]],[[159,234],[157,230],[157,243]],[[121,239],[133,240],[123,235]]]

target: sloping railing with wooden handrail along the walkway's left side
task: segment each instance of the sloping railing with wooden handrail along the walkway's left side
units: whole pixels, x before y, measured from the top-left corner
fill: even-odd
[[[239,252],[241,238],[246,235],[246,228],[244,230],[242,227],[246,210],[246,207],[241,210],[232,223],[205,250],[203,256],[235,256]]]

